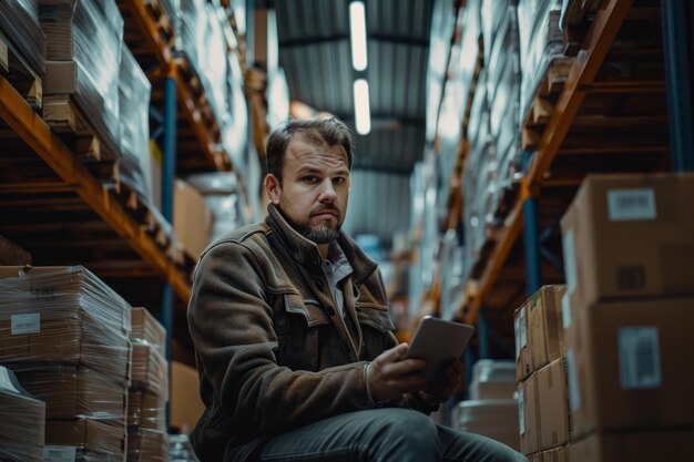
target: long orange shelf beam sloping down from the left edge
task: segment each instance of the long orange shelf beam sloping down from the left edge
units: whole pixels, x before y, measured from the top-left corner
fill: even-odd
[[[0,119],[21,137],[43,162],[51,167],[67,184],[75,185],[75,193],[84,201],[118,235],[142,257],[142,259],[162,274],[173,286],[175,294],[187,301],[191,286],[176,270],[173,261],[160,250],[152,238],[131,218],[121,204],[113,201],[108,191],[89,173],[68,150],[62,141],[51,131],[43,120],[17,93],[10,83],[0,76]]]

